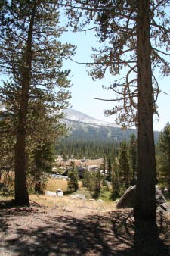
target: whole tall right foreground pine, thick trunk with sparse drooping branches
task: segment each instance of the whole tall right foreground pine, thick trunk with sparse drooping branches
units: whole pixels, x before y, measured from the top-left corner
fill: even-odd
[[[101,47],[94,48],[91,76],[102,79],[107,71],[119,76],[123,68],[126,72],[124,80],[116,80],[107,88],[116,92],[118,97],[109,100],[118,104],[105,113],[119,114],[118,121],[123,126],[131,123],[138,126],[134,217],[156,220],[153,113],[157,111],[160,89],[154,71],[160,67],[165,76],[170,71],[169,62],[164,58],[170,44],[169,1],[70,0],[66,5],[71,10],[70,16],[75,17],[75,30],[77,27],[85,30],[85,25],[94,20]]]

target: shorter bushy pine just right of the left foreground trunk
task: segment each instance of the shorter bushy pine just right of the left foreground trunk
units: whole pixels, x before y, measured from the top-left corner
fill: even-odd
[[[35,187],[36,192],[43,192],[47,173],[51,171],[54,161],[54,145],[56,140],[66,133],[63,123],[58,117],[48,113],[48,102],[34,102],[36,111],[28,114],[26,154],[28,155],[29,189]],[[29,126],[31,124],[31,126]],[[33,129],[32,129],[33,128]]]

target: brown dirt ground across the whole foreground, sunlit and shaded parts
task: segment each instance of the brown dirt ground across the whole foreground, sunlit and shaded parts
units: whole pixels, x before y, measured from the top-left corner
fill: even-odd
[[[169,255],[169,214],[158,214],[157,226],[134,225],[131,209],[110,211],[97,204],[72,200],[49,208],[31,202],[16,208],[0,201],[0,255]]]

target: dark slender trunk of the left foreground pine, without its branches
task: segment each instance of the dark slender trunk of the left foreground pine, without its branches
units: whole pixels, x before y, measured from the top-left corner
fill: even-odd
[[[32,72],[32,29],[35,13],[36,6],[32,8],[32,16],[29,23],[25,61],[23,61],[20,109],[18,113],[17,141],[15,145],[15,203],[17,205],[29,205],[29,195],[26,186],[26,121]]]

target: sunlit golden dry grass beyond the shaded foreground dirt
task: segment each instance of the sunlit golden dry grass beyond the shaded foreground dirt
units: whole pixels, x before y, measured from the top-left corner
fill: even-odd
[[[62,189],[63,192],[67,191],[67,180],[63,179],[49,179],[45,191],[50,190],[56,192],[57,189]],[[86,200],[71,199],[69,195],[65,195],[63,198],[52,197],[48,195],[29,195],[30,203],[35,201],[37,204],[42,206],[52,208],[54,206],[58,207],[58,211],[97,211],[97,212],[106,212],[113,211],[115,205],[113,201],[106,200],[102,198],[105,202],[100,201],[90,201],[92,198],[91,192],[87,188],[82,187],[82,181],[79,181],[79,190],[73,194],[82,194],[85,195]],[[2,196],[0,194],[0,201],[10,201],[14,199],[14,196]]]

